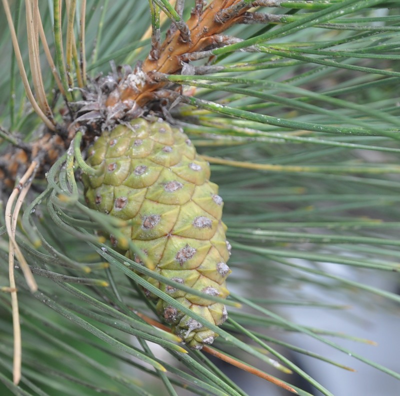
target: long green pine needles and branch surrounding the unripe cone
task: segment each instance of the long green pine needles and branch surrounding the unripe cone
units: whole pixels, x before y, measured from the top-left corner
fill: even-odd
[[[398,313],[396,1],[2,0],[2,7],[1,54],[13,53],[14,41],[20,57],[3,56],[0,69],[1,394],[247,394],[210,358],[222,352],[286,386],[282,394],[331,395],[291,352],[351,367],[288,342],[293,332],[400,379],[384,361],[344,346],[352,340],[367,349],[371,341],[284,313],[293,305],[346,310],[349,321],[351,305]],[[201,291],[115,250],[104,236],[123,237],[126,224],[85,203],[81,179],[95,174],[85,158],[96,131],[143,116],[182,128],[219,186],[230,294],[206,297],[226,305],[220,327],[154,284],[204,298]],[[310,300],[310,287],[323,297]],[[181,344],[146,291],[218,334],[212,346]]]

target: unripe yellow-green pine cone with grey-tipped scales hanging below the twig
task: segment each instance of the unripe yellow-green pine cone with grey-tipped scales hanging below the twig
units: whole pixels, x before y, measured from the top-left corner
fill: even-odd
[[[221,221],[223,202],[209,179],[207,162],[187,136],[159,119],[133,120],[104,132],[89,148],[87,163],[100,176],[82,175],[90,208],[123,220],[122,229],[155,265],[154,271],[204,294],[225,298],[226,261],[230,245]],[[127,257],[140,259],[110,236]],[[220,325],[227,317],[221,303],[145,277],[157,288]],[[217,334],[180,310],[158,299],[157,311],[172,331],[192,348],[213,342]]]

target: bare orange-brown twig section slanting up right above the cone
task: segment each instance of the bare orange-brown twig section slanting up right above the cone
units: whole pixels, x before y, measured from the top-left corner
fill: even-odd
[[[156,73],[177,74],[185,61],[207,57],[204,52],[209,47],[217,48],[229,43],[221,41],[220,34],[241,19],[241,15],[253,7],[242,0],[214,0],[204,10],[202,2],[196,2],[195,8],[186,22],[188,35],[183,30],[169,30],[156,58],[148,56],[140,67],[123,79],[105,101],[107,107],[128,101],[135,101],[138,106],[145,105],[153,98],[152,92],[163,88],[167,83],[154,81]],[[220,15],[221,18],[217,18]],[[248,20],[248,17],[247,17]],[[184,29],[186,32],[186,28]],[[187,36],[187,37],[186,37]],[[199,54],[199,55],[195,55]]]

